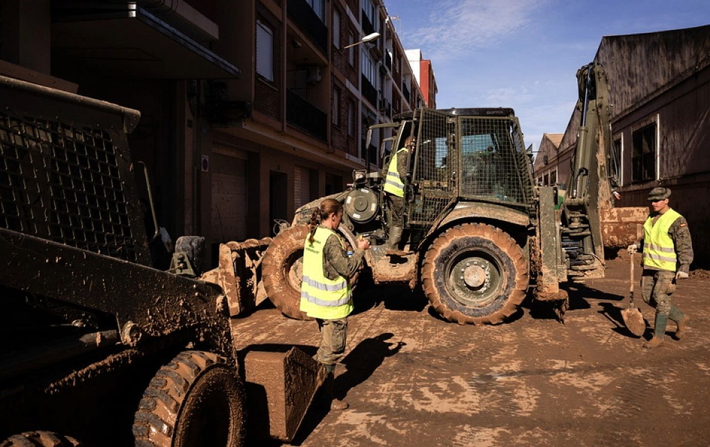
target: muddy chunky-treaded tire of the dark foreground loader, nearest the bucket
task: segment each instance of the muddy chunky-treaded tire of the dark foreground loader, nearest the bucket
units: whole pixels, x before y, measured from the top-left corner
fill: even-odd
[[[136,446],[243,446],[245,399],[236,370],[222,357],[180,352],[143,393],[133,423]]]

